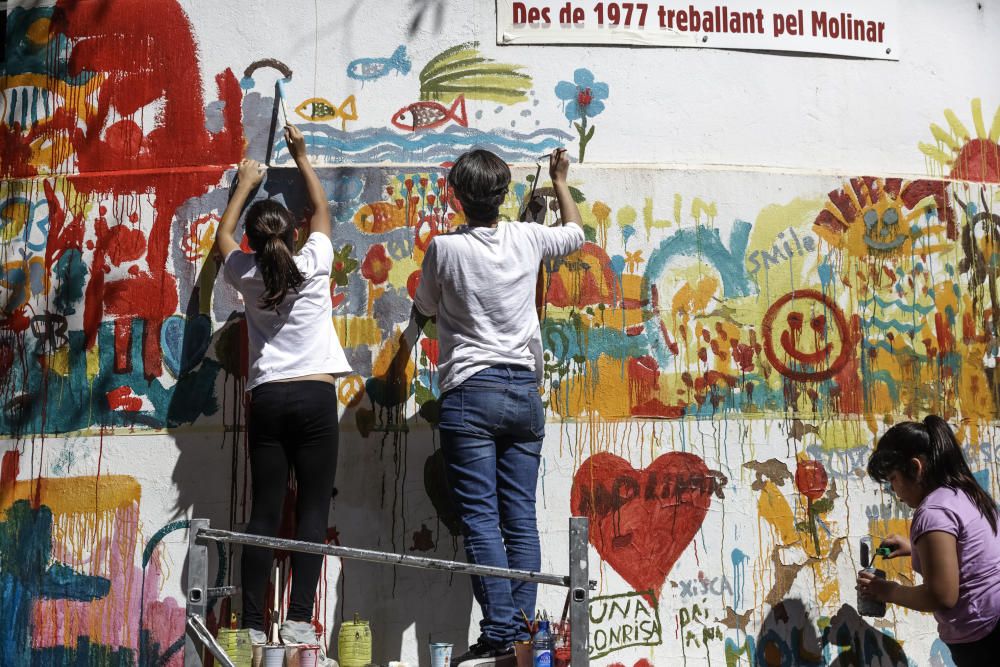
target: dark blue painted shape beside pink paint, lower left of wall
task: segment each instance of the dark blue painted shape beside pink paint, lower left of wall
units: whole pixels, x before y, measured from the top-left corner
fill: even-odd
[[[33,509],[26,500],[15,502],[0,523],[0,664],[38,664],[31,649],[35,600],[89,602],[110,590],[111,582],[104,577],[52,562],[52,510],[45,505]]]

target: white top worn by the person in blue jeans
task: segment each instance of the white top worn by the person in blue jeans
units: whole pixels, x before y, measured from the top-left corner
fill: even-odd
[[[542,380],[535,286],[542,260],[583,245],[575,222],[560,227],[501,220],[435,236],[413,302],[437,317],[441,392],[497,364],[524,366]]]

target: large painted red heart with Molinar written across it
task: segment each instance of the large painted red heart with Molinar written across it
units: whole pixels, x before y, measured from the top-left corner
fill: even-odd
[[[725,476],[694,454],[670,452],[644,470],[601,452],[573,477],[573,513],[590,519],[590,543],[637,592],[659,596],[705,520]]]

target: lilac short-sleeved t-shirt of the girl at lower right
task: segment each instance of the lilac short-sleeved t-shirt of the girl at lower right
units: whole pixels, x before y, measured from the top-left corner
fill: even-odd
[[[954,535],[958,546],[958,603],[934,612],[945,643],[982,639],[1000,620],[1000,537],[964,491],[942,486],[921,501],[910,524],[913,569],[919,573],[916,543],[924,533]]]

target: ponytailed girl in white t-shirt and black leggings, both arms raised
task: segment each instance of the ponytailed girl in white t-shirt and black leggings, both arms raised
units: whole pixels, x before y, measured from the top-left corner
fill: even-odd
[[[296,481],[295,539],[323,542],[337,469],[339,428],[335,377],[350,372],[330,302],[333,244],[326,194],[309,164],[302,133],[289,125],[285,142],[302,174],[312,216],[309,237],[294,252],[295,218],[273,200],[246,214],[252,253],[240,250],[234,232],[240,212],[264,177],[253,160],[240,162],[232,198],[219,223],[216,244],[223,274],[246,305],[250,368],[247,431],[253,504],[247,532],[276,536],[289,471]],[[266,641],[264,612],[273,554],[243,547],[243,627],[255,643]],[[323,557],[292,554],[292,592],[280,636],[286,644],[319,644],[313,601]],[[328,662],[325,653],[322,665]]]

